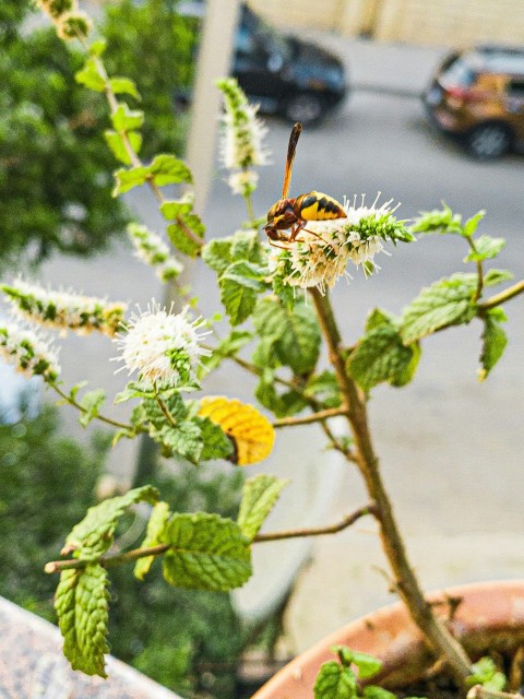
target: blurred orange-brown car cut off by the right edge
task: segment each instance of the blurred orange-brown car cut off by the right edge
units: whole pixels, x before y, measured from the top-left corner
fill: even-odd
[[[524,47],[478,46],[440,64],[422,95],[431,121],[480,159],[524,145]]]

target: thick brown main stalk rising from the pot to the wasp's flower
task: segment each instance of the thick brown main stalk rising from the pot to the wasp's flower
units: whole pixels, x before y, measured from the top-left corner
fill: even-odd
[[[417,577],[407,558],[404,541],[396,524],[390,498],[385,491],[369,433],[366,399],[348,376],[341,350],[341,334],[330,298],[313,288],[311,296],[323,335],[327,342],[329,358],[347,404],[347,419],[355,440],[358,469],[365,479],[368,495],[377,505],[380,538],[384,554],[394,573],[395,587],[414,623],[421,630],[433,651],[442,656],[460,682],[471,675],[471,661],[458,641],[451,635],[424,596]]]

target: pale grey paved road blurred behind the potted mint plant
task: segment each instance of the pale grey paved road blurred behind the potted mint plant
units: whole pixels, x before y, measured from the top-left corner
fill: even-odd
[[[372,201],[381,191],[384,198],[402,202],[400,215],[405,217],[441,200],[466,216],[484,208],[488,212],[484,230],[508,238],[498,265],[511,266],[522,276],[522,156],[495,164],[472,162],[428,127],[417,99],[391,94],[392,88],[420,91],[440,52],[321,38],[338,45],[356,83],[385,86],[390,92],[356,91],[322,128],[303,133],[293,193],[318,189],[342,198],[366,192]],[[276,120],[270,126],[274,165],[261,173],[254,200],[261,213],[278,196],[289,132]],[[155,222],[145,196],[135,204]],[[217,175],[206,212],[210,234],[229,235],[242,214],[240,201],[231,204]],[[373,306],[400,311],[422,284],[463,269],[464,253],[460,240],[428,238],[384,256],[374,279],[356,275],[349,286],[340,283],[334,300],[345,336],[349,342],[358,337]],[[159,294],[148,271],[121,248],[88,264],[56,260],[46,266],[45,277],[82,286],[86,293],[103,287],[111,297],[142,304]],[[199,268],[196,287],[206,312],[217,309],[213,284],[211,274]],[[479,384],[475,376],[480,328],[473,323],[426,342],[414,383],[403,391],[379,388],[370,405],[384,477],[428,587],[524,574],[520,536],[524,523],[524,299],[509,305],[508,311],[510,348],[486,383]],[[67,371],[76,380],[87,367],[94,384],[115,389],[112,366],[103,363],[115,351],[97,339],[90,344],[88,356],[84,347],[84,342],[69,341],[62,354]],[[248,383],[230,371],[214,379],[213,390],[230,392],[231,384],[239,396],[249,395]],[[118,449],[123,451],[117,453],[116,463],[126,455],[126,446]],[[343,486],[330,519],[364,500],[355,474],[348,472]],[[383,578],[370,569],[383,565],[371,534],[371,525],[362,524],[358,531],[317,543],[318,562],[302,576],[290,607],[287,628],[293,648],[303,648],[391,599]],[[325,595],[330,570],[333,589]]]

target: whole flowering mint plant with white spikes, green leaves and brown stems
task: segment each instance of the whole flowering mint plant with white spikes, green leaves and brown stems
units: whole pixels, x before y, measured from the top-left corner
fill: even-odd
[[[318,220],[303,222],[307,225],[295,232],[298,235],[293,239],[283,229],[270,245],[260,230],[265,217],[255,216],[251,202],[255,168],[266,163],[265,129],[255,108],[230,79],[218,83],[226,108],[222,156],[233,193],[246,201],[247,221],[230,236],[205,241],[204,224],[193,211],[188,166],[169,153],[159,153],[148,163],[141,161],[144,115],[135,104],[140,95],[132,81],[108,75],[104,42],[91,40],[88,17],[79,12],[74,0],[39,0],[39,4],[59,36],[80,42],[85,50],[85,66],[76,80],[107,97],[112,128],[105,135],[121,163],[115,173],[115,196],[146,186],[158,201],[175,252],[143,225],[132,224],[130,238],[144,261],[160,270],[160,276],[168,270],[164,279],[171,282],[183,308],[177,312],[175,306],[163,308],[153,299],[145,311],[129,315],[119,301],[41,289],[24,280],[2,285],[15,315],[24,321],[62,333],[102,332],[116,342],[120,352],[117,358],[134,375],[115,396],[116,402],[132,404],[126,423],[104,414],[106,396],[102,390],[82,394],[83,386],[64,387],[52,345],[33,329],[1,325],[2,353],[20,370],[41,376],[63,402],[79,411],[84,426],[102,420],[115,429],[115,441],[146,433],[165,457],[180,455],[201,469],[213,469],[207,462],[217,459],[241,466],[263,461],[273,448],[275,430],[315,424],[327,446],[359,471],[369,497],[358,510],[331,526],[270,533],[260,530],[288,485],[275,476],[246,481],[236,521],[207,512],[178,513],[150,486],[100,502],[67,537],[62,554],[69,557],[46,566],[48,573],[60,572],[56,607],[66,655],[73,667],[105,676],[108,570],[114,566],[133,562],[134,574],[143,579],[154,560],[162,558],[164,578],[171,585],[228,591],[251,576],[253,545],[334,533],[361,517],[372,517],[400,597],[436,659],[443,660],[457,683],[467,686],[478,668],[433,613],[409,564],[380,473],[367,402],[380,383],[402,387],[414,379],[424,339],[475,319],[483,325],[479,378],[489,376],[507,344],[502,306],[524,292],[524,281],[507,285],[512,279],[507,270],[487,269],[504,241],[478,233],[484,212],[463,221],[444,205],[407,222],[395,216],[396,206],[391,201],[379,203],[376,199],[368,204],[364,198],[350,198],[344,204],[345,216],[319,214]],[[178,198],[166,196],[166,185],[180,187]],[[319,212],[322,208],[327,211],[322,197],[311,193],[310,205]],[[401,248],[429,234],[455,236],[463,242],[464,261],[472,271],[431,283],[400,315],[372,309],[362,336],[348,346],[341,336],[330,289],[348,275],[348,265],[370,276],[368,283],[372,284],[377,257],[385,246]],[[230,325],[227,336],[218,335],[216,319],[199,317],[198,301],[178,285],[184,258],[202,258],[216,273]],[[502,291],[491,291],[502,285]],[[321,358],[323,350],[327,365]],[[254,399],[273,415],[271,420],[235,396],[205,395],[205,377],[225,360],[258,377]],[[344,418],[345,435],[332,429],[330,420],[335,416]],[[143,543],[132,550],[115,550],[118,520],[139,502],[148,511]],[[346,651],[338,655],[342,670],[324,670],[319,678],[323,687],[336,675],[336,690],[322,690],[319,696],[360,696],[349,665],[357,665],[360,676],[374,665]],[[500,684],[497,686],[500,688]],[[369,690],[362,696],[368,695]]]

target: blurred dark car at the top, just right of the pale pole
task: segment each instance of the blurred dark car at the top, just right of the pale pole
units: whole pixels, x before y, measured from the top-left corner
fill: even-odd
[[[179,11],[203,15],[200,2],[181,3]],[[250,102],[265,114],[276,114],[303,125],[319,122],[347,94],[342,60],[298,36],[270,26],[247,4],[240,5],[231,74]],[[177,95],[180,104],[189,95]]]

